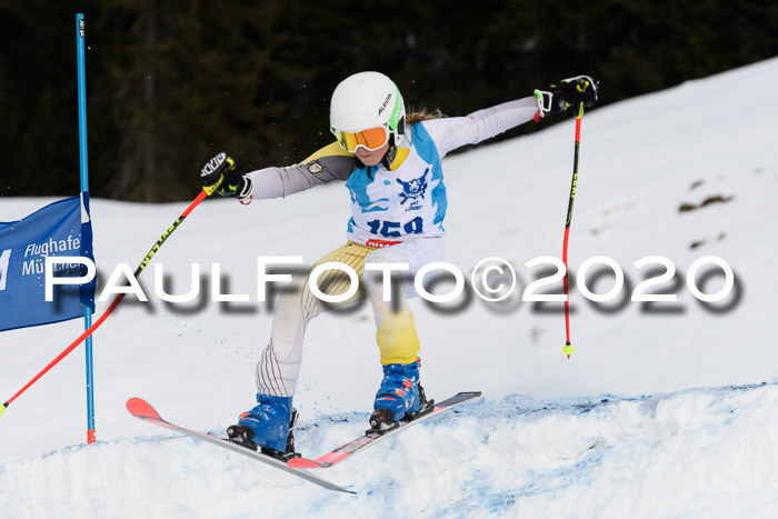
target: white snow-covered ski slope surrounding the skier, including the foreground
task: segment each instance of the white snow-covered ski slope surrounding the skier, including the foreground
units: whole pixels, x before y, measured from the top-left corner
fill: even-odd
[[[520,290],[503,303],[463,298],[449,312],[412,301],[428,393],[479,389],[485,398],[329,469],[356,497],[171,437],[124,410],[142,397],[170,420],[223,431],[251,406],[271,323],[256,300],[256,258],[311,265],[343,241],[340,184],[248,208],[209,200],[154,263],[181,293],[192,262],[207,281],[218,262],[222,290],[250,302],[167,305],[147,269],[140,281],[151,301],[126,298],[94,336],[100,441],[81,445],[81,349],[0,419],[0,517],[775,517],[778,120],[752,100],[771,99],[776,80],[778,59],[584,118],[571,270],[607,256],[627,283],[626,300],[601,305],[573,287],[570,360],[561,305],[541,311],[519,298],[541,270],[526,261],[561,257],[573,123],[446,159],[447,261],[469,273],[481,259],[503,258]],[[0,220],[49,201],[3,199]],[[103,279],[119,262],[134,269],[184,208],[93,200]],[[657,267],[634,262],[650,256],[675,263],[675,280],[655,291],[677,302],[629,301]],[[686,286],[689,266],[706,256],[736,275],[734,292],[712,305]],[[722,286],[721,276],[704,278],[707,293]],[[590,282],[598,293],[611,286],[608,276]],[[81,330],[76,320],[2,333],[0,391],[10,397]],[[380,380],[373,333],[367,306],[311,323],[296,397],[306,453],[363,429]]]

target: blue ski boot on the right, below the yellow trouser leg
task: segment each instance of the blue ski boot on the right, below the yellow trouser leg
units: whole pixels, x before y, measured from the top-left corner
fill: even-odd
[[[383,366],[383,380],[376,393],[370,427],[377,431],[393,428],[399,420],[412,419],[427,405],[419,383],[419,365]]]

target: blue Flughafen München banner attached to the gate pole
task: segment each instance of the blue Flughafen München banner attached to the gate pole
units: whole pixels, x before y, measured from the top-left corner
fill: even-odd
[[[89,196],[67,198],[18,221],[0,223],[0,331],[64,321],[94,310],[94,280],[54,286],[46,300],[47,256],[92,256]],[[86,276],[80,263],[54,265],[54,276]]]

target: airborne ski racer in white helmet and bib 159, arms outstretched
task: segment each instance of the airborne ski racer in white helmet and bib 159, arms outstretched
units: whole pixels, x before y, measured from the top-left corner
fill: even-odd
[[[247,174],[219,153],[206,164],[201,177],[210,187],[223,176],[219,193],[242,203],[252,198],[286,197],[332,180],[346,181],[351,196],[347,243],[313,268],[340,262],[358,273],[363,291],[338,305],[363,297],[370,300],[383,369],[370,425],[381,430],[425,410],[420,343],[407,301],[417,293],[412,282],[406,281],[391,301],[385,301],[382,272],[366,272],[365,265],[406,263],[407,272],[415,276],[425,265],[442,260],[447,202],[441,159],[449,151],[571,106],[582,110],[596,101],[597,83],[579,76],[467,117],[408,114],[395,82],[379,72],[360,72],[341,81],[332,93],[330,131],[336,141],[331,144],[299,164]],[[325,306],[313,296],[309,275],[292,281],[281,295],[270,342],[257,366],[258,403],[228,430],[233,441],[279,457],[293,450],[291,402],[306,327],[333,306]],[[319,290],[328,296],[341,296],[350,285],[342,270],[326,270],[318,279]]]

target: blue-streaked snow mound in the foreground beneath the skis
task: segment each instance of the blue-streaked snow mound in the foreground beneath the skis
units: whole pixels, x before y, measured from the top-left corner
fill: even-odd
[[[122,439],[7,463],[0,516],[775,517],[777,412],[776,385],[481,399],[321,471],[356,496],[186,437]],[[298,447],[366,421],[303,422]]]

